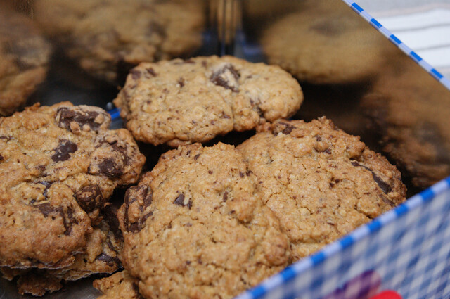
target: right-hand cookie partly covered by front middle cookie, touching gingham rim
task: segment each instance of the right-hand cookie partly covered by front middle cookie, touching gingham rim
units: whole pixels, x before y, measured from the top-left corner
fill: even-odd
[[[325,117],[258,130],[237,149],[288,234],[294,260],[405,200],[397,168]]]

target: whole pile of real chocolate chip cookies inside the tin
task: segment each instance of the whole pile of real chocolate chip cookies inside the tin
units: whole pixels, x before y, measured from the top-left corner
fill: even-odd
[[[94,281],[101,298],[233,298],[405,200],[359,137],[288,120],[302,101],[278,66],[211,56],[133,68],[114,101],[127,129],[68,102],[1,118],[3,276],[44,295],[123,268]],[[135,140],[174,149],[142,172]]]

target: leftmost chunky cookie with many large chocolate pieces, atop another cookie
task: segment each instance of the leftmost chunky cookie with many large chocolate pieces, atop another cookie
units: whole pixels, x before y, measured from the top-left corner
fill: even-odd
[[[116,186],[145,158],[101,108],[34,105],[0,118],[0,266],[58,269],[86,239]]]

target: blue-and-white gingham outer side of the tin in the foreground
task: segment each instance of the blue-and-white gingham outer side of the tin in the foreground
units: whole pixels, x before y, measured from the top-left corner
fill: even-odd
[[[372,282],[355,279],[367,273]],[[450,177],[236,299],[362,299],[386,289],[450,298]]]

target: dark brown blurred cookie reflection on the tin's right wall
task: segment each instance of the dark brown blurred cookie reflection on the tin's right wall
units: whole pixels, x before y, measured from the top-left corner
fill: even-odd
[[[361,104],[383,152],[420,189],[450,175],[450,93],[404,57]]]

